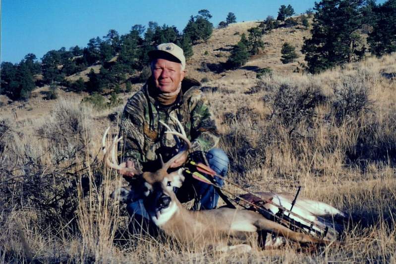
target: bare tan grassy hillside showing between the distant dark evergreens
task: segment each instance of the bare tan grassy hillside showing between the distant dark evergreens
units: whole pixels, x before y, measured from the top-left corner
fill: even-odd
[[[279,73],[292,72],[297,66],[297,61],[303,61],[303,55],[299,54],[300,57],[296,62],[282,64],[280,61],[281,48],[287,40],[287,42],[296,47],[296,51],[300,50],[303,37],[309,36],[309,30],[301,27],[278,28],[264,35],[262,40],[265,42],[266,47],[259,54],[250,58],[240,69],[224,70],[222,63],[226,62],[230,49],[240,40],[240,35],[242,33],[246,34],[248,29],[256,27],[258,24],[259,22],[257,21],[241,22],[230,24],[223,29],[214,29],[213,35],[207,42],[193,46],[194,55],[187,61],[187,76],[198,81],[207,78],[207,81],[210,82],[204,85],[209,86],[221,86],[224,83],[235,83],[235,81],[236,83],[242,82],[243,87],[248,89],[254,86],[255,71],[259,68],[271,67],[275,72]],[[205,52],[207,52],[206,55]],[[206,71],[201,70],[202,63],[208,65]],[[75,81],[82,77],[84,81],[88,81],[87,74],[91,68],[97,73],[100,67],[101,65],[90,66],[82,72],[68,76],[67,79]],[[132,84],[133,91],[136,91],[141,85]],[[16,113],[18,120],[43,116],[57,104],[57,100],[45,100],[48,91],[48,86],[34,90],[28,102],[12,102],[5,96],[0,95],[0,103],[3,105],[0,108],[0,113],[2,116],[11,119],[14,118],[14,113]],[[87,93],[76,94],[62,88],[58,89],[58,94],[59,99],[67,98],[73,101],[80,101],[87,96]],[[126,102],[129,96],[124,94],[122,96],[123,101]]]

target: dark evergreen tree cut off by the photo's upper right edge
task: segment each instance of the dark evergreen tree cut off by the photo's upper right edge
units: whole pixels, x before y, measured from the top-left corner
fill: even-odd
[[[367,39],[376,56],[396,52],[396,0],[388,0],[374,9],[377,21]]]

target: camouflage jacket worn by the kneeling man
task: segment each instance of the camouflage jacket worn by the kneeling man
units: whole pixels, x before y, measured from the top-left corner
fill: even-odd
[[[120,160],[131,159],[135,167],[143,170],[154,169],[159,154],[166,162],[177,153],[176,142],[167,128],[179,131],[170,118],[176,117],[184,127],[192,143],[191,152],[208,151],[219,142],[219,133],[207,100],[199,89],[199,82],[184,79],[181,92],[171,106],[160,105],[150,96],[150,80],[127,102],[119,129],[123,140],[118,146]],[[179,131],[180,132],[180,131]],[[154,165],[156,166],[156,165]]]

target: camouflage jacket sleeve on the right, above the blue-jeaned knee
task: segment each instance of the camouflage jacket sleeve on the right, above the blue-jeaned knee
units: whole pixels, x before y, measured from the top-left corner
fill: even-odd
[[[220,138],[209,102],[198,90],[191,97],[191,106],[190,152],[209,151],[217,146]]]

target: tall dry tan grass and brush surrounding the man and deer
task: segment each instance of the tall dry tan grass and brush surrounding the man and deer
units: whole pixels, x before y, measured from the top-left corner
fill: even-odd
[[[274,74],[250,89],[218,80],[207,92],[230,179],[253,191],[302,186],[347,213],[342,243],[221,254],[130,234],[123,206],[109,199],[123,182],[99,154],[114,115],[64,101],[46,118],[0,121],[1,262],[395,263],[395,58]]]

